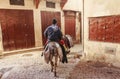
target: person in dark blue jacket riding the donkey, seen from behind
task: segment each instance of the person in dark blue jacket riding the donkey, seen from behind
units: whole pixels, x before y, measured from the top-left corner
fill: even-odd
[[[51,41],[59,43],[59,45],[62,49],[62,52],[63,52],[62,63],[64,63],[64,62],[68,63],[66,51],[65,51],[65,48],[63,46],[64,42],[63,41],[61,42],[63,34],[62,34],[60,28],[57,26],[56,19],[53,19],[52,25],[50,25],[46,28],[46,30],[44,31],[44,36],[47,38],[46,44],[51,42]]]

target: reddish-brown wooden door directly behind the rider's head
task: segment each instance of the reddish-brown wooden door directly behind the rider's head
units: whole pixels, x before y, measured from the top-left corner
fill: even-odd
[[[46,38],[44,37],[44,31],[48,26],[52,24],[53,18],[57,19],[57,25],[61,27],[60,12],[41,11],[43,45],[46,42]]]

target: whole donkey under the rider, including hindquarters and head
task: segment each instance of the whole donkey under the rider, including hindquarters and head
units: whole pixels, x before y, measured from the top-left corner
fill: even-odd
[[[73,47],[74,44],[72,41],[72,37],[70,35],[64,35],[63,40],[65,41],[66,44],[65,46],[67,49]],[[63,59],[63,52],[61,46],[57,42],[48,42],[47,45],[45,46],[43,54],[44,54],[45,62],[46,63],[50,62],[51,72],[54,71],[54,76],[56,77],[56,67],[57,67],[58,58],[60,62]]]

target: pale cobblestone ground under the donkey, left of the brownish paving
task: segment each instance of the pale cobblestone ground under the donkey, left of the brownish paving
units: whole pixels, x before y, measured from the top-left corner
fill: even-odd
[[[57,77],[54,77],[41,51],[10,55],[0,59],[0,79],[66,79],[79,60],[74,58],[74,53],[69,54],[69,63],[59,62]]]

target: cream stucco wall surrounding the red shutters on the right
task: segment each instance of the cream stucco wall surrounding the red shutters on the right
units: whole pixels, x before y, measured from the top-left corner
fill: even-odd
[[[84,48],[87,59],[100,60],[120,66],[120,44],[90,41],[88,17],[120,15],[120,0],[84,0]],[[114,50],[107,52],[107,50]]]

